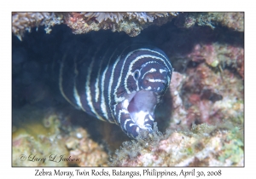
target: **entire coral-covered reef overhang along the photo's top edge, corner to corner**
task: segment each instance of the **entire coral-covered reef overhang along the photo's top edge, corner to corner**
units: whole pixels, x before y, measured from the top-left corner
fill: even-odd
[[[112,30],[125,32],[131,37],[140,34],[150,25],[161,26],[175,19],[175,25],[180,28],[199,26],[227,26],[235,31],[243,32],[243,13],[167,13],[167,12],[108,12],[108,13],[13,13],[12,32],[21,38],[24,32],[31,31],[34,26],[45,26],[49,33],[51,26],[66,24],[73,33],[81,34],[90,31]]]

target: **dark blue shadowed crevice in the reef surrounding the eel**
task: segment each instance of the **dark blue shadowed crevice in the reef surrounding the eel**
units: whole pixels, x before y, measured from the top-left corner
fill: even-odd
[[[230,34],[232,37],[237,38],[224,38],[230,36]],[[155,46],[166,52],[166,55],[171,59],[175,71],[185,72],[187,64],[183,66],[183,62],[174,61],[175,58],[173,59],[173,56],[188,54],[193,49],[195,43],[218,41],[219,43],[236,43],[237,46],[243,46],[241,34],[243,33],[233,32],[223,27],[216,28],[214,31],[207,26],[195,26],[192,29],[181,30],[173,22],[170,22],[163,26],[149,26],[133,39],[154,43]],[[124,38],[125,40],[130,37],[124,32],[113,33],[110,31],[74,35],[71,29],[65,25],[54,26],[50,34],[46,34],[42,26],[38,28],[38,32],[36,32],[35,28],[32,28],[31,33],[26,32],[22,42],[13,35],[13,108],[38,105],[38,103],[40,103],[38,107],[61,108],[61,104],[67,101],[60,95],[57,81],[55,80],[58,77],[55,70],[55,60],[60,60],[61,56],[65,54],[65,47],[70,47],[70,50],[73,50],[75,55],[81,49],[81,47],[76,48],[76,44],[99,43],[105,38]],[[103,138],[103,141],[108,142],[110,148],[117,148],[122,141],[129,140],[117,125],[92,118],[82,111],[75,110],[71,105],[67,105],[67,108],[74,115],[71,120],[72,124],[88,129],[95,141],[101,141]],[[158,122],[159,130],[162,132],[165,131],[166,124],[172,116],[172,110],[170,109],[172,109],[172,98],[167,92],[163,102],[160,103],[160,107],[157,107],[156,112],[156,122]]]

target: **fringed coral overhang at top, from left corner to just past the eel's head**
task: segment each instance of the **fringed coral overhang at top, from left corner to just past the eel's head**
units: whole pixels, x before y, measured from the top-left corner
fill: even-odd
[[[176,13],[13,13],[12,32],[21,40],[25,31],[30,32],[33,26],[45,26],[49,33],[51,26],[67,24],[73,33],[81,34],[100,29],[111,29],[113,32],[125,32],[131,37],[137,36],[143,28],[156,20],[160,26],[175,17]]]

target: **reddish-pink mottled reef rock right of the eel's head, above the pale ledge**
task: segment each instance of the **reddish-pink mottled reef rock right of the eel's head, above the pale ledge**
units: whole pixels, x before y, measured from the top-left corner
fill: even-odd
[[[172,77],[173,124],[243,124],[243,53],[230,45],[195,44],[187,55],[192,65]]]

